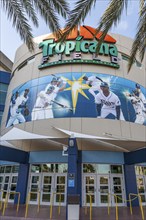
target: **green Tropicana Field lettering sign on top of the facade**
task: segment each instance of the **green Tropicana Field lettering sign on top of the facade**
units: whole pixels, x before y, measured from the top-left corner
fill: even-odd
[[[117,47],[113,42],[104,42],[100,47],[99,56],[103,55],[106,57],[110,57],[110,61],[107,62],[105,60],[101,60],[101,57],[99,58],[96,56],[96,47],[98,41],[96,39],[89,39],[89,36],[88,40],[86,40],[86,38],[86,35],[79,35],[75,38],[75,40],[67,39],[67,41],[65,41],[64,43],[56,42],[55,39],[52,38],[44,40],[39,44],[39,48],[42,48],[43,53],[42,63],[39,66],[39,68],[41,69],[49,66],[69,63],[92,63],[119,68],[118,51]],[[89,58],[84,58],[83,54],[88,54],[91,56]],[[55,55],[57,55],[56,60],[53,60],[52,62],[51,57],[54,57]],[[69,56],[70,59],[65,59]]]

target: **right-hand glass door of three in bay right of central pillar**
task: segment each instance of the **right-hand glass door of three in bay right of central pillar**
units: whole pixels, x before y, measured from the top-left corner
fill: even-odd
[[[125,191],[124,191],[124,182],[123,176],[121,175],[111,175],[111,193],[117,196],[117,203],[118,206],[124,206],[124,198],[125,198]],[[111,198],[112,205],[116,205],[116,199],[114,196]]]

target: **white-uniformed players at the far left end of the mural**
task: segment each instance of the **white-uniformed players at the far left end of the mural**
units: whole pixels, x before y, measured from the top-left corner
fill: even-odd
[[[11,125],[23,123],[26,121],[25,117],[22,114],[22,109],[26,106],[28,93],[29,89],[25,89],[20,96],[18,92],[17,95],[15,95],[15,98],[14,95],[12,96],[12,100],[10,103],[10,118],[6,127],[10,127]]]

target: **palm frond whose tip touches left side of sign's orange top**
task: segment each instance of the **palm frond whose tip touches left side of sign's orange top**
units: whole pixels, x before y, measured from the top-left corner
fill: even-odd
[[[91,10],[93,4],[96,0],[79,0],[75,4],[75,8],[70,12],[70,17],[65,25],[65,32],[62,37],[62,41],[70,34],[70,32],[80,25],[81,22],[84,22],[85,17],[88,12]]]

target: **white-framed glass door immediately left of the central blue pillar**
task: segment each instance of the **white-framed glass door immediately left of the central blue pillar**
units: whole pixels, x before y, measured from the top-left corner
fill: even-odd
[[[66,187],[67,187],[67,175],[56,174],[55,176],[55,193],[54,194],[54,205],[58,205],[61,201],[61,205],[66,204]]]

